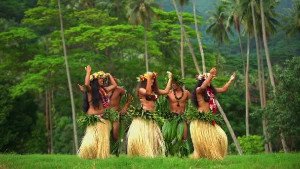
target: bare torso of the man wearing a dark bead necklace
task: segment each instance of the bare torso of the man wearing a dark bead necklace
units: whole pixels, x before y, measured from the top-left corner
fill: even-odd
[[[176,91],[177,98],[180,98],[182,96],[182,90]],[[184,95],[181,99],[177,100],[173,90],[170,90],[169,94],[167,95],[168,101],[170,103],[170,111],[174,112],[176,114],[181,114],[185,111],[186,108],[186,102],[189,99],[189,91],[184,90]],[[179,105],[179,106],[178,106]]]

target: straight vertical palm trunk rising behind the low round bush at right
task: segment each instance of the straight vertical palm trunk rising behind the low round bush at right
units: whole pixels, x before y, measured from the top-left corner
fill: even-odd
[[[250,33],[248,32],[247,38],[247,66],[246,66],[246,75],[245,75],[245,90],[246,90],[246,136],[249,135],[249,55],[250,55]]]

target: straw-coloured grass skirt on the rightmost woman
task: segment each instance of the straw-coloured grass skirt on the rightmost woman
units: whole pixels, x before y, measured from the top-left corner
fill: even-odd
[[[217,124],[203,120],[193,120],[190,123],[190,136],[193,142],[193,159],[223,159],[227,151],[227,136]]]

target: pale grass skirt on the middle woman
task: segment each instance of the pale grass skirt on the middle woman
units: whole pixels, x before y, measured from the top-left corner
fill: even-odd
[[[127,154],[154,158],[165,156],[165,151],[162,133],[155,121],[135,117],[127,133]]]

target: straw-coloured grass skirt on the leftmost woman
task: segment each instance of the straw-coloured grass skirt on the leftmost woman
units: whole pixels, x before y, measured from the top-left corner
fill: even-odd
[[[78,157],[83,159],[105,159],[110,157],[111,122],[101,119],[86,127],[85,135],[78,150]]]

